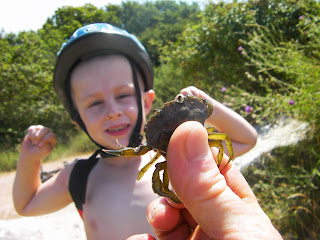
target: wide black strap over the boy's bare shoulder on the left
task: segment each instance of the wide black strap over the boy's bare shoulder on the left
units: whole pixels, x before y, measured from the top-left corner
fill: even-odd
[[[81,159],[76,162],[69,178],[69,192],[78,210],[82,211],[82,205],[86,201],[87,182],[92,168],[98,162],[97,150],[89,159]]]

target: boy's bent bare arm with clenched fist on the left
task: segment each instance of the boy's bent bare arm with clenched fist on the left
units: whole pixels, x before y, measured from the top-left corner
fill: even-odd
[[[56,211],[71,202],[68,179],[72,166],[41,183],[41,160],[56,144],[50,129],[31,126],[22,143],[13,185],[13,202],[20,215],[32,216]]]

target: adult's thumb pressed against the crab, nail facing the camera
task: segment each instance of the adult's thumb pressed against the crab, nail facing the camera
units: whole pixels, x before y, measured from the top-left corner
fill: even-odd
[[[171,184],[185,207],[210,237],[222,238],[239,226],[248,207],[227,186],[198,122],[186,122],[173,133],[167,166]],[[234,213],[237,217],[234,217]]]

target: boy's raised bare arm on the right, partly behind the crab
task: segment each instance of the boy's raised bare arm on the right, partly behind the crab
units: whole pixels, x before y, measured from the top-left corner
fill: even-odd
[[[196,87],[187,87],[180,91],[183,95],[194,95],[209,100],[213,105],[212,115],[207,122],[219,132],[226,133],[232,141],[234,157],[240,156],[254,147],[257,131],[243,117],[227,108]]]

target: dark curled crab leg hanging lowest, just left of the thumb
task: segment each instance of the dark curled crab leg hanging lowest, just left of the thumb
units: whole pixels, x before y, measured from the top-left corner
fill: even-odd
[[[156,164],[156,170],[154,171],[152,176],[152,189],[156,194],[160,196],[170,198],[175,203],[181,203],[180,199],[174,194],[174,192],[172,192],[168,188],[169,177],[166,169],[167,169],[167,162],[161,162]],[[163,183],[161,182],[161,179],[160,179],[161,170],[164,170]]]

